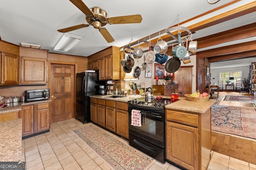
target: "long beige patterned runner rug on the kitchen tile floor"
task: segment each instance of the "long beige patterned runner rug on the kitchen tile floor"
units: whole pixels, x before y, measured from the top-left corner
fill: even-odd
[[[117,170],[144,170],[155,160],[93,125],[73,131]]]

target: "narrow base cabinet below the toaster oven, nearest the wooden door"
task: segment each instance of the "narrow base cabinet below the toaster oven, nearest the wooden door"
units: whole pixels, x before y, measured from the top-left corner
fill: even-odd
[[[37,132],[50,129],[49,103],[36,104],[37,106]]]

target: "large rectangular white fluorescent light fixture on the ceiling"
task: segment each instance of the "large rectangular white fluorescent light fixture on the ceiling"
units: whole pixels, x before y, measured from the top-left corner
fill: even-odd
[[[53,51],[67,52],[82,39],[81,35],[64,33],[60,41],[55,45]]]

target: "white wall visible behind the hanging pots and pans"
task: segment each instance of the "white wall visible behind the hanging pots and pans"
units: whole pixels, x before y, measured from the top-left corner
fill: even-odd
[[[145,55],[146,55],[146,53],[145,53]],[[168,56],[168,59],[170,59],[170,58],[172,58],[172,57]],[[191,63],[187,63],[187,64],[184,64],[181,61],[181,66],[193,66],[193,68],[192,68],[192,92],[195,92],[196,91],[196,55],[190,56],[190,60],[191,60]],[[134,59],[134,61],[135,61],[135,64],[132,69],[134,69],[136,66],[141,66],[141,64],[144,63],[144,57],[141,57],[140,59]],[[156,62],[154,62],[154,63],[156,63]],[[152,87],[152,85],[155,85],[156,79],[154,79],[154,63],[152,64],[152,78],[145,78],[145,70],[144,70],[144,71],[141,71],[139,79],[134,80],[133,82],[137,83],[137,84],[144,82],[146,88]],[[165,65],[165,63],[163,65]],[[166,74],[166,71],[164,73]],[[163,80],[161,80],[161,81],[163,81]],[[175,81],[175,73],[174,73],[174,81]],[[179,82],[177,82],[177,84],[178,83]],[[125,87],[127,89],[130,89],[129,81],[126,81]]]

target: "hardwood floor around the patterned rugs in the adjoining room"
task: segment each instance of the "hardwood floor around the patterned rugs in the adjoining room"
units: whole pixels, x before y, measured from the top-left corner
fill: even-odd
[[[220,92],[219,96],[253,96],[252,94],[238,93],[238,92]],[[253,103],[246,102],[230,102],[223,101],[218,105],[224,106],[239,106],[239,107],[254,107]],[[256,164],[256,140],[234,135],[225,135],[223,133],[212,132],[212,150],[245,162]]]

